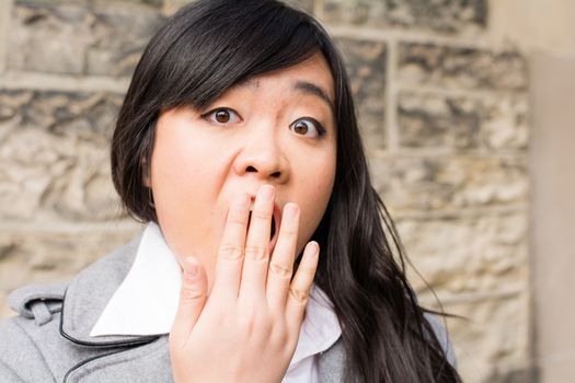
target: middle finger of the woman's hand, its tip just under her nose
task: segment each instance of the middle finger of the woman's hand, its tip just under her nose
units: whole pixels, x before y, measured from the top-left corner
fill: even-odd
[[[274,187],[262,185],[255,196],[243,259],[239,300],[265,299],[265,280],[269,260],[269,231],[274,212]]]

